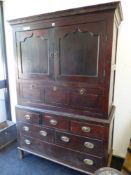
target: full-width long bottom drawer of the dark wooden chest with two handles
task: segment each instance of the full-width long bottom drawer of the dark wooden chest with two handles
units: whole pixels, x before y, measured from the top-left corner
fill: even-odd
[[[80,170],[94,172],[104,166],[103,158],[71,151],[56,145],[42,142],[31,137],[22,137],[19,146],[49,159],[63,163],[64,165],[75,167]]]

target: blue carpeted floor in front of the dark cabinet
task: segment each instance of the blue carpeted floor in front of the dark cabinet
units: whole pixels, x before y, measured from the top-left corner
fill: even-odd
[[[112,167],[119,169],[121,163],[113,159]],[[26,154],[24,161],[18,158],[17,144],[14,142],[0,151],[0,175],[83,175],[37,156]]]

